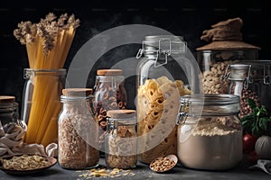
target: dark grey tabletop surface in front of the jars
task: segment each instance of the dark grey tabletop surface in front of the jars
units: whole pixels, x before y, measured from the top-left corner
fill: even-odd
[[[267,175],[261,170],[251,170],[248,167],[252,164],[243,160],[238,166],[227,171],[203,171],[184,168],[182,165],[178,164],[168,173],[155,173],[149,169],[145,164],[138,162],[135,169],[132,169],[129,175],[120,175],[117,177],[91,177],[94,179],[201,179],[201,180],[220,180],[220,179],[231,179],[231,180],[260,180],[260,179],[271,179],[271,175]],[[104,158],[100,158],[99,166],[105,166]],[[97,168],[98,168],[97,167]],[[88,179],[82,176],[83,174],[88,174],[90,170],[67,170],[61,168],[58,164],[52,166],[51,168],[33,175],[9,175],[5,172],[0,171],[0,179]],[[90,178],[89,178],[90,179]]]

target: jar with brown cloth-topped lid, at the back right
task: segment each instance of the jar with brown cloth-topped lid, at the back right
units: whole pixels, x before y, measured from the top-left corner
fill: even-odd
[[[226,67],[235,61],[257,59],[260,48],[242,40],[242,26],[240,18],[233,18],[202,32],[201,40],[210,42],[197,48],[204,94],[228,94],[229,81],[221,80]]]

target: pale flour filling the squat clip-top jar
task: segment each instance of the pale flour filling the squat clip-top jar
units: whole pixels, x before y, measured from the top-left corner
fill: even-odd
[[[182,126],[178,128],[181,136]],[[242,158],[242,130],[226,118],[201,118],[192,135],[178,142],[178,157],[183,166],[224,170],[237,166]]]

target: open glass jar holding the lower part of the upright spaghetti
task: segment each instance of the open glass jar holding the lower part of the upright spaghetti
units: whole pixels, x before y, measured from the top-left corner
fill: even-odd
[[[46,147],[58,141],[58,114],[66,69],[24,69],[22,118],[27,124],[24,141]]]

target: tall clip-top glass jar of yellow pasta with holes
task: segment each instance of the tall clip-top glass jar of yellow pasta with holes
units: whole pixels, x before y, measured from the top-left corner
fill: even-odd
[[[200,70],[180,36],[146,36],[136,58],[138,159],[149,164],[176,154],[179,96],[197,92]]]

